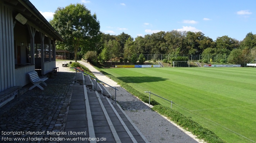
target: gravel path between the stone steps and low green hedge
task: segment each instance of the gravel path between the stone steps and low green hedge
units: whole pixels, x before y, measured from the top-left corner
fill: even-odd
[[[79,63],[90,69],[99,80],[119,90],[116,95],[118,103],[126,109],[124,110],[125,113],[131,118],[149,142],[204,143],[190,132],[185,131],[172,121],[151,110],[148,105],[131,95],[131,93],[120,87],[116,82],[97,71],[89,63],[82,61]],[[106,88],[112,95],[115,95],[115,90],[109,86],[106,86]]]

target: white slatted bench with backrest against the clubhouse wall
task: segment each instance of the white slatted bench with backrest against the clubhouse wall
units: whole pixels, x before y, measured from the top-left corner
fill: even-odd
[[[44,88],[42,86],[40,86],[39,84],[42,83],[45,86],[47,86],[47,84],[44,81],[47,80],[48,78],[39,78],[36,71],[30,72],[28,74],[29,74],[30,81],[34,84],[33,86],[31,86],[29,88],[29,90],[33,89],[36,86],[39,87],[40,89],[44,90]]]

